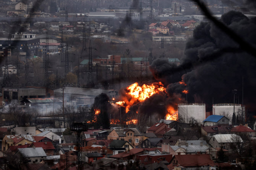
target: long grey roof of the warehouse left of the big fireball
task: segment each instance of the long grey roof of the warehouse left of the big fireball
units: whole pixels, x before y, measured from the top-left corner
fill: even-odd
[[[55,93],[62,93],[62,88],[54,90]],[[67,94],[80,94],[80,95],[89,95],[97,96],[101,93],[114,92],[114,90],[103,90],[103,89],[86,89],[78,87],[66,87],[64,93]]]

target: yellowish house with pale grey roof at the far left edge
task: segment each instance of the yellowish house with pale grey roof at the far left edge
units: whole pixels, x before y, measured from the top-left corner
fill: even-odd
[[[2,140],[2,151],[6,151],[9,146],[26,145],[33,142],[32,135],[5,135]]]

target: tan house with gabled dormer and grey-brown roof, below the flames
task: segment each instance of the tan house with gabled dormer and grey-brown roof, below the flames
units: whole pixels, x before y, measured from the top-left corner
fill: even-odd
[[[113,129],[108,137],[108,140],[125,140],[128,141],[133,147],[137,147],[142,140],[141,132],[137,128],[130,129]]]

